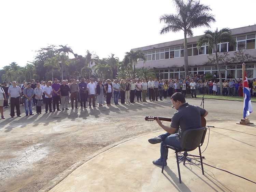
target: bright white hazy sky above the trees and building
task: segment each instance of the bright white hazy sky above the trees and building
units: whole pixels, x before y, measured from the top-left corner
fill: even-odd
[[[216,23],[211,29],[256,24],[255,0],[201,0],[210,5]],[[70,46],[74,53],[95,51],[123,59],[132,48],[183,39],[183,31],[160,35],[163,14],[175,13],[171,0],[13,0],[0,4],[0,69],[11,62],[25,66],[35,50],[47,45]],[[205,28],[194,29],[194,36]],[[72,54],[70,58],[74,58]]]

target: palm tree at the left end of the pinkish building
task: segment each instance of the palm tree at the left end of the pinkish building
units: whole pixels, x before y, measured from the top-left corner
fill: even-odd
[[[142,59],[143,62],[146,62],[146,56],[145,53],[139,49],[137,51],[131,50],[130,52],[125,53],[125,62],[128,62],[130,64],[133,64],[133,78],[135,79],[135,65],[138,63],[138,59]]]

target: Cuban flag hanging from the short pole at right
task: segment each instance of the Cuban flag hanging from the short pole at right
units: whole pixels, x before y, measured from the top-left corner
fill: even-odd
[[[244,86],[243,86],[243,93],[244,93],[244,119],[246,116],[250,115],[253,112],[253,107],[251,103],[251,93],[249,91],[248,86],[248,79],[244,70]]]

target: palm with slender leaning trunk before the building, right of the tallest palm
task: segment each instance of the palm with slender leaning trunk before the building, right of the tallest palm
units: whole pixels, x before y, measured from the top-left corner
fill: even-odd
[[[208,44],[208,53],[212,55],[212,51],[214,50],[215,57],[216,57],[216,65],[219,72],[219,82],[220,82],[220,94],[222,95],[222,76],[221,76],[221,69],[219,67],[218,61],[218,48],[217,45],[219,43],[226,43],[228,42],[230,45],[235,46],[237,42],[234,40],[231,31],[229,28],[223,28],[218,31],[218,28],[212,32],[210,30],[204,31],[204,35],[201,36],[197,40],[197,49],[199,50],[204,43]]]

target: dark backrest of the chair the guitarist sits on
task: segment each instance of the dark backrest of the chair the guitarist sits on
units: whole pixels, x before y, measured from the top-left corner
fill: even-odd
[[[182,151],[193,151],[198,146],[202,146],[206,131],[206,127],[186,130],[181,139]]]

